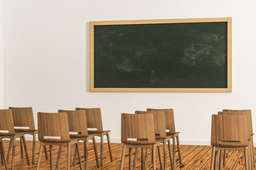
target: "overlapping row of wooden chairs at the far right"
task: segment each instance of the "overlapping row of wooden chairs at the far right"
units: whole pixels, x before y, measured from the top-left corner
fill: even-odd
[[[211,145],[213,146],[211,170],[223,169],[226,150],[244,152],[245,169],[254,169],[251,111],[223,109],[218,115],[212,115]]]

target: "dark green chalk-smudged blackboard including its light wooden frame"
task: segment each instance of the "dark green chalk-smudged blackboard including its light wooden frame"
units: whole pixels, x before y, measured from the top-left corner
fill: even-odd
[[[90,91],[230,92],[230,22],[90,22]]]

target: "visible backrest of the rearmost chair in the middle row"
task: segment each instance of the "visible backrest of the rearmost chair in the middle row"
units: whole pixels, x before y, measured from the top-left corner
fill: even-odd
[[[175,123],[174,123],[174,109],[156,109],[156,108],[147,108],[146,111],[164,111],[165,122],[166,122],[166,134],[174,135],[176,133]]]

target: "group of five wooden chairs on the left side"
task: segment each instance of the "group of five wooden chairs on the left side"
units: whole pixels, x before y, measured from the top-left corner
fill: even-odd
[[[110,160],[112,159],[112,151],[110,146],[110,130],[103,130],[102,117],[100,108],[75,108],[74,111],[59,110],[58,113],[38,113],[38,130],[36,130],[33,120],[32,108],[13,108],[0,110],[0,154],[1,163],[5,164],[8,169],[7,163],[9,162],[9,156],[12,146],[12,162],[11,169],[14,169],[15,160],[15,146],[16,138],[20,138],[21,142],[21,158],[23,158],[23,147],[26,153],[27,164],[30,165],[28,150],[26,147],[25,134],[33,135],[33,151],[32,151],[32,164],[35,159],[35,145],[36,134],[41,141],[41,147],[38,155],[37,168],[39,169],[41,153],[44,148],[46,159],[48,159],[46,146],[50,146],[50,169],[53,169],[53,145],[59,145],[58,159],[56,163],[56,169],[58,169],[58,163],[60,160],[60,153],[63,146],[68,147],[68,166],[71,165],[71,150],[70,145],[75,145],[75,154],[73,165],[75,165],[76,155],[80,161],[80,169],[82,168],[82,162],[80,159],[80,149],[78,141],[84,142],[85,151],[85,169],[88,164],[88,140],[92,140],[95,149],[95,159],[97,167],[103,166],[103,136],[107,136],[107,142],[110,152]],[[95,136],[100,137],[100,162],[97,156],[97,147],[95,143]],[[9,150],[7,157],[4,153],[3,138],[9,138]]]

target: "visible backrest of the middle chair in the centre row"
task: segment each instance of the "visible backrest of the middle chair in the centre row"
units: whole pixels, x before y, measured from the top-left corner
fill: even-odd
[[[156,139],[166,138],[166,124],[164,111],[135,111],[135,114],[152,114]]]

